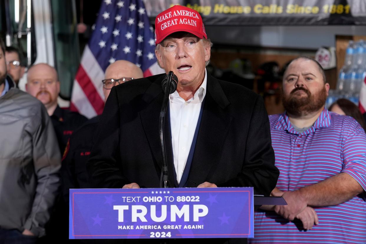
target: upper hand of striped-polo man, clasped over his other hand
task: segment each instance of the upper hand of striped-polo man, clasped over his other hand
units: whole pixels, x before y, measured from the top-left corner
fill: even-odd
[[[290,221],[293,221],[296,215],[307,207],[305,198],[299,191],[286,191],[283,195],[281,195],[282,192],[272,192],[272,194],[273,196],[282,196],[285,199],[287,205],[276,205],[275,212]]]

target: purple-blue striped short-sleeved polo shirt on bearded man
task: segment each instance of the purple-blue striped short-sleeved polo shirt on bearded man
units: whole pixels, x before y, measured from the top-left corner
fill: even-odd
[[[295,191],[341,172],[366,189],[366,135],[356,120],[324,109],[314,125],[300,134],[285,113],[269,116],[269,121],[281,191]],[[304,231],[298,219],[288,221],[274,211],[259,209],[254,217],[254,239],[249,242],[366,243],[365,191],[315,211],[319,225]]]

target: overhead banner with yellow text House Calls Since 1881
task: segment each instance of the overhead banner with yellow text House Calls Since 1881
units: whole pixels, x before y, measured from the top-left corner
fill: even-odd
[[[206,26],[365,25],[366,1],[347,0],[144,0],[147,15],[173,5],[198,11]]]

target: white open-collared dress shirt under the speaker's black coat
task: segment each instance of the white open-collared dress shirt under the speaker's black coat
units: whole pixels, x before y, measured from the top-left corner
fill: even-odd
[[[206,85],[207,71],[205,70],[205,78],[190,100],[184,101],[177,91],[169,95],[173,159],[178,184],[180,179],[182,179],[184,167],[191,149],[202,101],[206,95]]]

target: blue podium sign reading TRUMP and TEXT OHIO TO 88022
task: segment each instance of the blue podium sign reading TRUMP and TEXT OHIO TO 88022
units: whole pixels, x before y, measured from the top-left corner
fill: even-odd
[[[70,189],[69,239],[253,237],[253,188]]]

